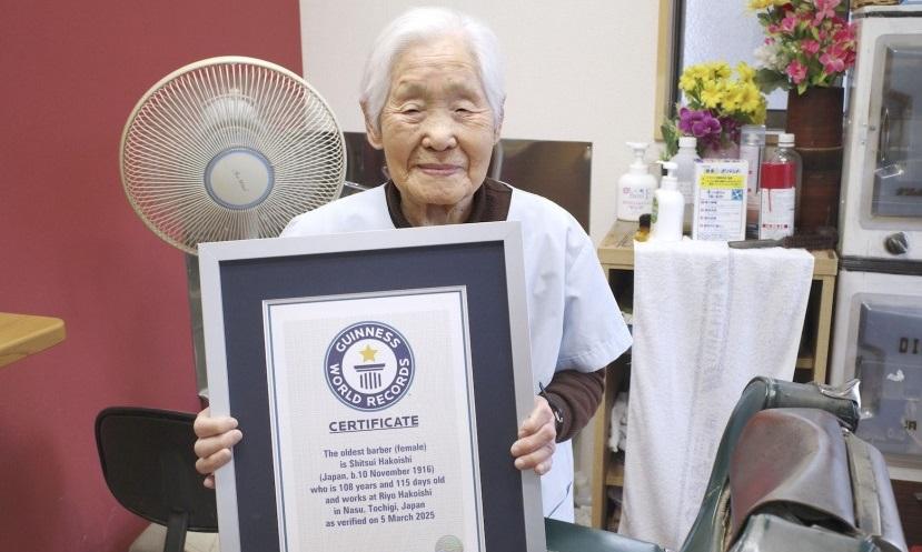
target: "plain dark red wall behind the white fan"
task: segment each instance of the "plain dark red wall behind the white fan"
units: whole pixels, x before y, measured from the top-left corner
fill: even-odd
[[[198,410],[184,255],[135,215],[125,121],[196,60],[300,73],[297,0],[51,0],[0,6],[0,311],[67,339],[0,368],[0,552],[125,551],[142,522],[111,498],[103,408]]]

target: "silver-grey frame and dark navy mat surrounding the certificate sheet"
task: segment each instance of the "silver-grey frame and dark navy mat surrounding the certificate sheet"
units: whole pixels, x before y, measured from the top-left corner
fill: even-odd
[[[199,264],[211,412],[234,415],[245,433],[232,462],[216,473],[224,552],[286,552],[264,301],[440,287],[467,294],[484,544],[545,550],[538,478],[518,471],[509,454],[533,403],[517,222],[205,243]]]

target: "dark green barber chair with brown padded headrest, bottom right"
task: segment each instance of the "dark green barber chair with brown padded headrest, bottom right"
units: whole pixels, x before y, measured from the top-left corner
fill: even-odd
[[[886,465],[855,436],[857,422],[856,381],[834,389],[752,380],[681,552],[905,552]],[[572,524],[546,529],[555,552],[662,551]]]

